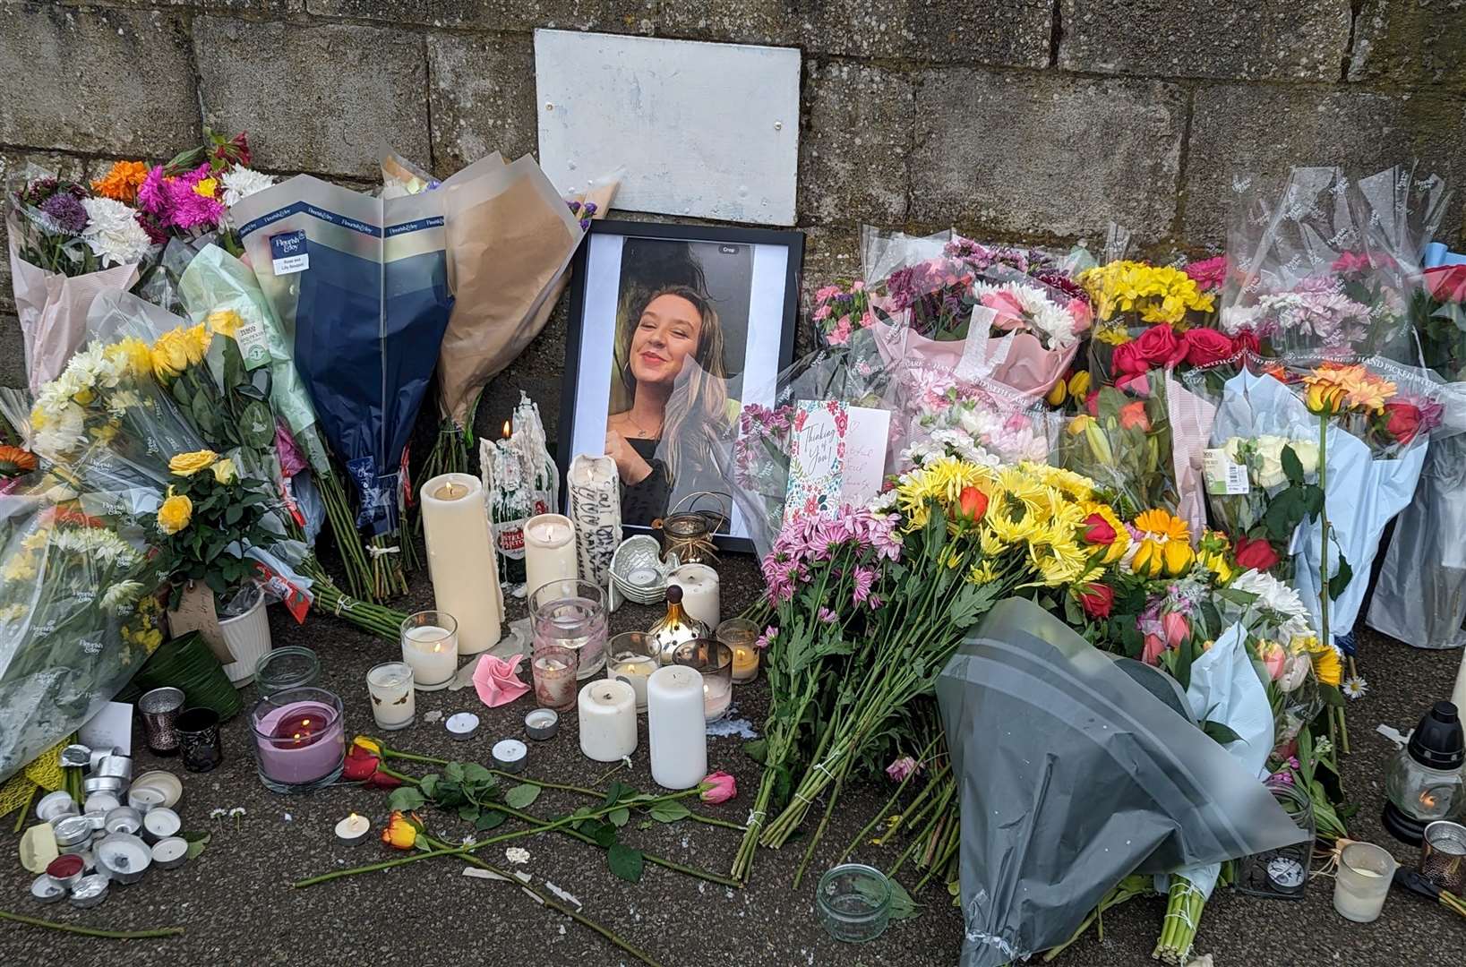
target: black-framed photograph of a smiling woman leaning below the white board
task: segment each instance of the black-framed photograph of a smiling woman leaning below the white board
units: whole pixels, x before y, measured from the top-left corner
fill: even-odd
[[[559,463],[616,460],[626,533],[717,508],[717,544],[752,548],[718,467],[742,407],[771,406],[793,360],[803,251],[802,231],[591,223],[572,274]]]

